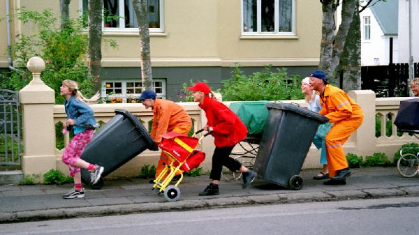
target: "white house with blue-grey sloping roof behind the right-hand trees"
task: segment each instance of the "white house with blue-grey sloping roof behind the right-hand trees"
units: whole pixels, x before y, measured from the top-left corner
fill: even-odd
[[[362,66],[399,63],[398,2],[378,1],[360,13]]]

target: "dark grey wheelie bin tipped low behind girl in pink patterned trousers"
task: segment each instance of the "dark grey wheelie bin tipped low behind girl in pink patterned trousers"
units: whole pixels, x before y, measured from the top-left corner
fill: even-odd
[[[94,133],[81,158],[103,166],[102,177],[105,177],[146,149],[159,150],[137,117],[124,109],[116,109],[115,116]],[[82,169],[82,180],[90,181],[90,172],[85,169]],[[90,186],[102,188],[103,178]]]

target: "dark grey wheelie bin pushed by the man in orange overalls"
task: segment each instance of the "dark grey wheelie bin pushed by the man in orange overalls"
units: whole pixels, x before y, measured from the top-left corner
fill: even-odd
[[[266,107],[269,116],[254,170],[266,181],[300,190],[302,178],[298,174],[318,126],[328,119],[293,104],[267,103]]]

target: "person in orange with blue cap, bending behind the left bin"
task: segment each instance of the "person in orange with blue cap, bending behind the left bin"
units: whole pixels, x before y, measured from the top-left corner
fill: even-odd
[[[146,109],[149,107],[153,109],[153,124],[150,136],[157,144],[161,142],[161,135],[164,135],[167,132],[173,131],[180,134],[188,134],[191,130],[191,117],[186,110],[180,105],[177,105],[177,103],[170,100],[156,99],[156,93],[150,90],[143,91],[140,100]],[[170,164],[168,160],[168,156],[162,152],[156,167],[156,178],[165,167],[163,163]],[[179,177],[180,176],[175,176],[173,180],[177,180]],[[154,180],[150,181],[150,183],[153,182]]]

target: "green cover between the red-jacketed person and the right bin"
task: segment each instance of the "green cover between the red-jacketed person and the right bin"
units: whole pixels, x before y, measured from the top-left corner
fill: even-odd
[[[267,100],[240,101],[230,104],[230,109],[247,127],[247,135],[263,133],[269,112],[265,106]]]

